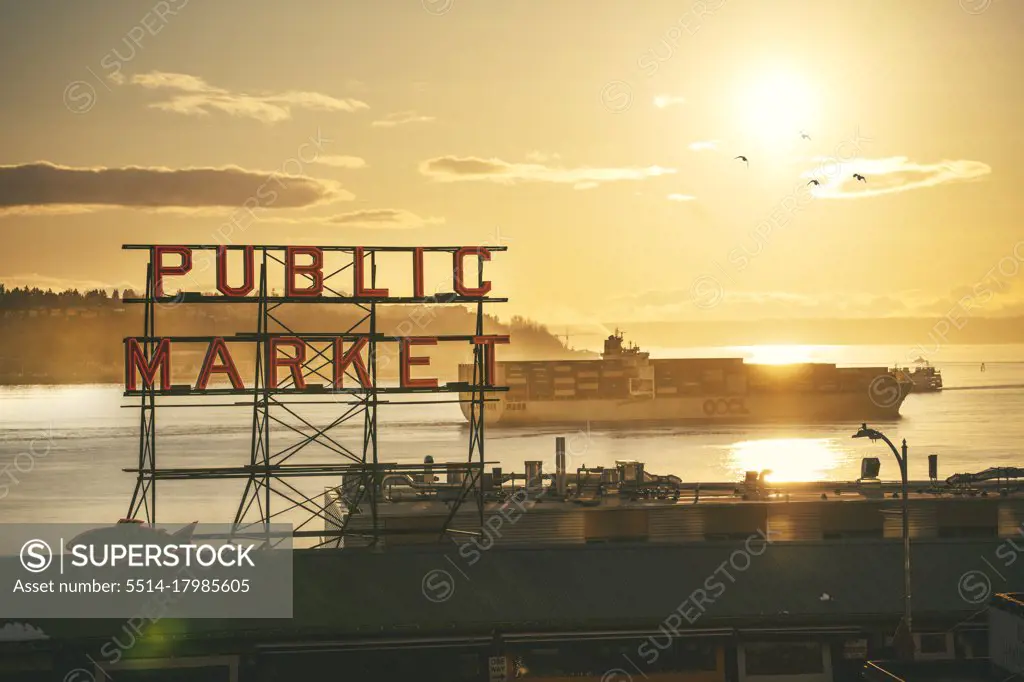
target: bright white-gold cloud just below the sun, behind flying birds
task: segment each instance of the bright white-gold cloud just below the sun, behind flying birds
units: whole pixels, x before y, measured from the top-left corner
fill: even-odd
[[[814,161],[819,162],[818,168],[805,171],[802,176],[821,181],[821,185],[812,193],[819,199],[879,197],[949,182],[978,180],[992,172],[990,166],[980,161],[946,160],[922,164],[906,157],[854,159],[844,163],[828,158],[816,158]],[[855,180],[854,173],[863,175],[866,182]]]

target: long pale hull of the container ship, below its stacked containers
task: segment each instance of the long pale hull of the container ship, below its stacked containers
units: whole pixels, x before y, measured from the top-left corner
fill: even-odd
[[[494,394],[492,394],[494,395]],[[487,424],[716,424],[758,422],[866,422],[899,418],[905,395],[892,404],[876,404],[862,393],[687,396],[589,400],[517,400],[500,395],[484,406]],[[464,393],[469,419],[471,395]]]

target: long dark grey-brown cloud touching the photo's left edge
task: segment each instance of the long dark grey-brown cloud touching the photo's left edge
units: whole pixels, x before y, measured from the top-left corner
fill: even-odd
[[[351,198],[335,182],[227,166],[70,168],[47,162],[0,166],[0,212],[87,212],[95,207],[201,209],[257,202],[303,208]],[[36,211],[29,211],[36,212]]]

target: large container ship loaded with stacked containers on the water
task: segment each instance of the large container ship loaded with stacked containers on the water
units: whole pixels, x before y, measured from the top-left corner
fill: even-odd
[[[496,363],[509,390],[485,403],[488,424],[638,424],[893,419],[914,383],[886,367],[754,365],[741,357],[651,359],[615,331],[596,360]],[[471,384],[473,366],[459,367]],[[469,419],[471,394],[460,393]]]

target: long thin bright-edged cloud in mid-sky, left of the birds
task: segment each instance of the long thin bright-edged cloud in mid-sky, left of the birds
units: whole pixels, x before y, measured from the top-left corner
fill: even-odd
[[[509,163],[501,159],[476,157],[436,157],[420,164],[420,172],[441,182],[483,180],[501,184],[516,182],[555,182],[571,184],[574,189],[592,189],[605,182],[643,180],[671,175],[674,168],[555,168],[544,164]]]

